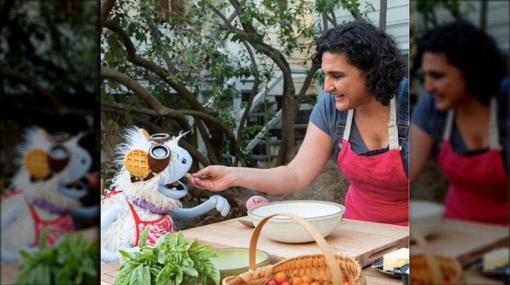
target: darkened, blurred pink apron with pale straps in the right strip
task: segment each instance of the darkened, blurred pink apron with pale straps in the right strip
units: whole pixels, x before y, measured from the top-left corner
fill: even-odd
[[[443,133],[438,164],[450,185],[445,197],[445,217],[507,225],[508,177],[499,147],[495,98],[491,101],[489,150],[460,155],[450,144],[454,111],[450,110]]]

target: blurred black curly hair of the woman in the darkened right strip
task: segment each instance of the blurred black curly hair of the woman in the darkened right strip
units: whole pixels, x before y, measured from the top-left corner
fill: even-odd
[[[473,24],[456,20],[431,29],[418,41],[413,69],[421,66],[424,52],[444,52],[451,65],[466,77],[466,88],[488,105],[499,92],[505,61],[494,39]]]

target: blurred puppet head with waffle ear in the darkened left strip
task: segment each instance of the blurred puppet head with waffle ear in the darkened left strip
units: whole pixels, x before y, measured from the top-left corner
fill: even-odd
[[[92,157],[79,145],[83,136],[66,132],[48,134],[42,128],[29,128],[17,148],[20,167],[13,187],[64,207],[68,203],[60,196],[73,200],[85,196],[87,186],[80,179],[87,174]]]

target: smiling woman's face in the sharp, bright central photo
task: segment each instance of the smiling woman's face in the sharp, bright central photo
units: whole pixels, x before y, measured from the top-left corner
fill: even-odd
[[[348,63],[345,53],[325,51],[321,69],[325,75],[324,92],[335,96],[337,110],[354,109],[375,100],[374,94],[365,89],[365,74]]]

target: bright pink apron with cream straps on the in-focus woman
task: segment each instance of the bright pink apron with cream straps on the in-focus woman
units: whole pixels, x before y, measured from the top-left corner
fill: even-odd
[[[343,147],[337,163],[350,185],[345,196],[348,219],[409,225],[409,178],[405,175],[398,146],[395,98],[390,102],[387,152],[373,156],[356,155],[349,135],[353,110],[348,111]]]

